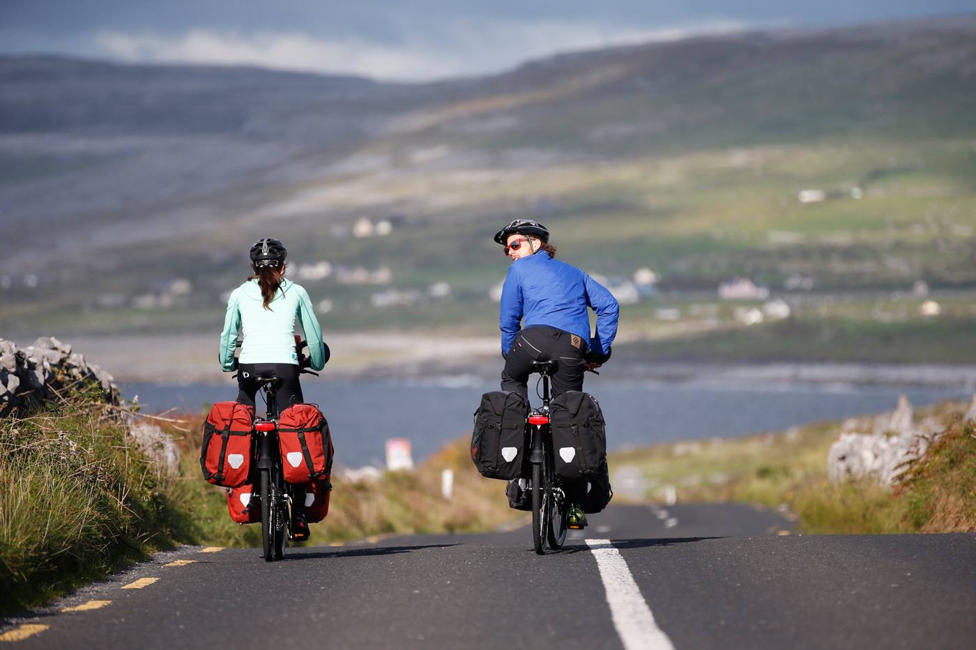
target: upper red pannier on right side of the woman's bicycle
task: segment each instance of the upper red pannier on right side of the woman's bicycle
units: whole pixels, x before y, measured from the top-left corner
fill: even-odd
[[[281,469],[289,483],[309,483],[332,471],[332,433],[314,404],[292,404],[278,416]]]

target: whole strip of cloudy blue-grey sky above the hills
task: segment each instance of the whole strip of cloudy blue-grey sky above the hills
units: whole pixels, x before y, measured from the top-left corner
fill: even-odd
[[[0,0],[0,53],[420,80],[567,50],[976,12],[976,0]]]

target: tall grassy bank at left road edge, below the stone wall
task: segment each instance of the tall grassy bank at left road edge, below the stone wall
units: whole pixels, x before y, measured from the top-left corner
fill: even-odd
[[[171,484],[88,395],[0,421],[0,611],[198,539]]]

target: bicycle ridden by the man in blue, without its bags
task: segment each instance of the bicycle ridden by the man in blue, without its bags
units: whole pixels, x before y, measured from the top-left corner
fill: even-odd
[[[556,370],[555,361],[534,361],[529,373],[538,373],[543,384],[543,405],[529,411],[526,427],[532,436],[529,463],[532,465],[532,545],[536,553],[546,552],[545,545],[558,550],[566,542],[569,528],[569,504],[561,479],[554,474],[552,463],[552,429],[549,425],[549,377]],[[537,385],[538,390],[538,385]]]

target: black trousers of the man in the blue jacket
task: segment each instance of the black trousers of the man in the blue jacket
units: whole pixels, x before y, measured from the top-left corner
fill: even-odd
[[[527,327],[518,333],[505,357],[502,389],[529,398],[527,383],[533,361],[555,360],[555,374],[550,378],[552,397],[567,390],[583,390],[587,371],[587,343],[580,337],[554,327]]]

